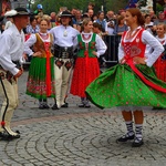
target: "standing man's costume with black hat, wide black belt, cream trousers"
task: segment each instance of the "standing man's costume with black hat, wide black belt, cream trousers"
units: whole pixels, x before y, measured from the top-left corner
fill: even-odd
[[[72,18],[68,11],[63,11],[61,17]],[[75,39],[80,33],[71,25],[54,27],[50,30],[54,38],[54,71],[55,71],[55,101],[53,110],[68,107],[65,97],[69,89],[69,81],[73,69],[73,51],[76,46]]]

